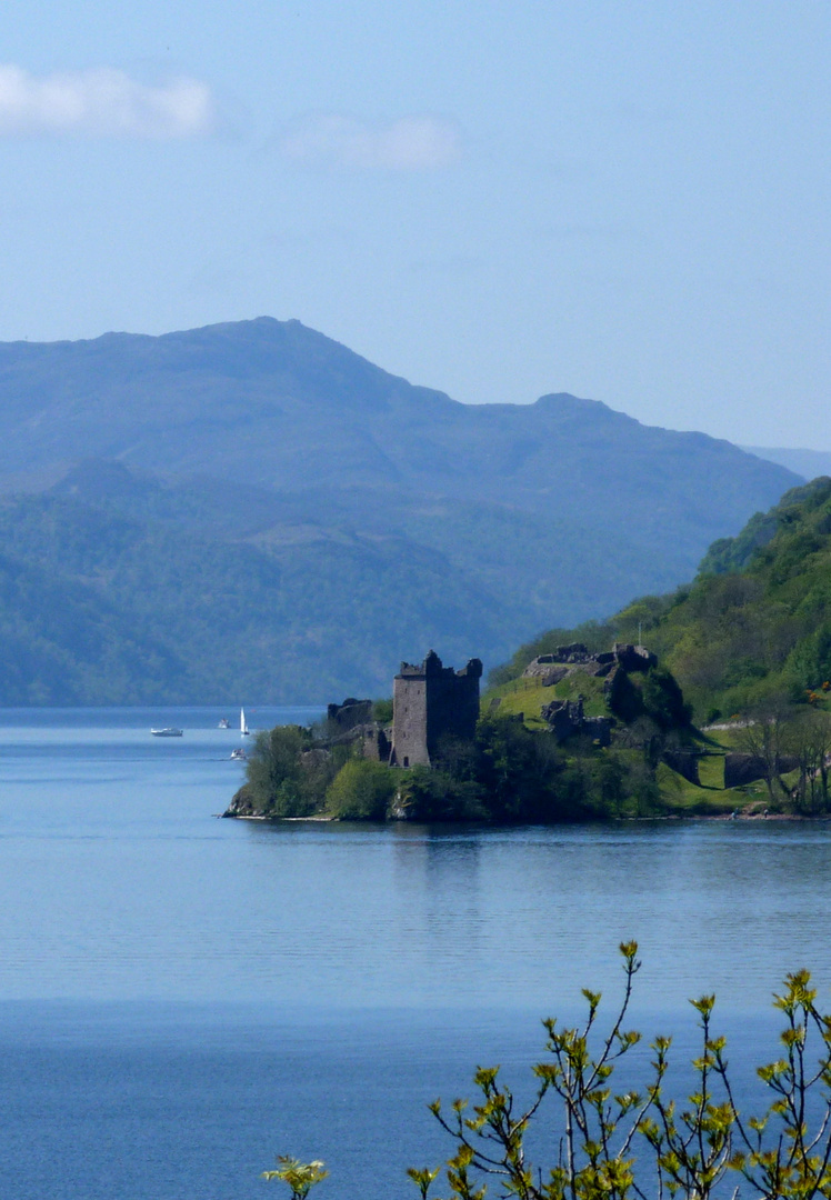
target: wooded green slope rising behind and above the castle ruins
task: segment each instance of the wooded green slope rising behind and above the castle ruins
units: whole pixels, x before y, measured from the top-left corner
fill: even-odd
[[[821,704],[831,680],[831,479],[791,490],[737,536],[715,542],[692,584],[636,600],[609,622],[549,630],[494,678],[517,678],[558,644],[604,649],[638,641],[639,631],[699,722],[773,700]]]

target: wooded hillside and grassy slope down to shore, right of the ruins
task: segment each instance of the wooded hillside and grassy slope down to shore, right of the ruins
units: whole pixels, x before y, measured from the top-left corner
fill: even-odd
[[[595,650],[643,638],[682,690],[703,786],[662,766],[670,809],[831,809],[831,479],[787,492],[715,542],[692,583],[606,622],[546,631],[492,684],[520,689],[530,659],[573,638]]]

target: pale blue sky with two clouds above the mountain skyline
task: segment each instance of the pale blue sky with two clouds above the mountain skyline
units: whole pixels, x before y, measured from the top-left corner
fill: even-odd
[[[831,449],[823,2],[6,0],[0,338],[297,317]]]

